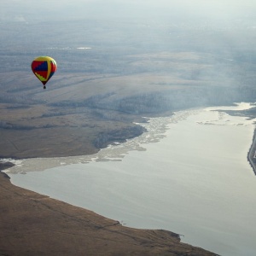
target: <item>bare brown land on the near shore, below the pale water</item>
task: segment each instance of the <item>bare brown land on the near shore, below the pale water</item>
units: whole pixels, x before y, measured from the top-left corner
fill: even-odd
[[[128,228],[96,212],[22,189],[2,171],[0,255],[217,255],[181,242],[172,231]]]

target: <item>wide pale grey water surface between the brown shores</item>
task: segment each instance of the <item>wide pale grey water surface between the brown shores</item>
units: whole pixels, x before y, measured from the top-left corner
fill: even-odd
[[[7,172],[20,187],[127,226],[172,230],[221,255],[254,256],[256,176],[247,152],[255,120],[221,111],[235,108],[250,106],[150,119],[141,137],[97,154],[20,160]]]

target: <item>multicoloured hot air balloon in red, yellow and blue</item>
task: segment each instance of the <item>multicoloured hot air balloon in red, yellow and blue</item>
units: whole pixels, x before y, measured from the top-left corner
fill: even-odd
[[[31,68],[35,76],[44,84],[45,89],[45,84],[57,70],[57,63],[51,57],[40,56],[32,61]]]

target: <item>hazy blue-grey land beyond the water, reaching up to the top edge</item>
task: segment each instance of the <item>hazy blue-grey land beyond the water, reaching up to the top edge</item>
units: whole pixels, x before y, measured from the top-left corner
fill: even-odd
[[[96,154],[145,133],[145,116],[256,102],[255,11],[248,0],[2,0],[0,157]],[[46,90],[31,71],[39,55],[58,65]]]

